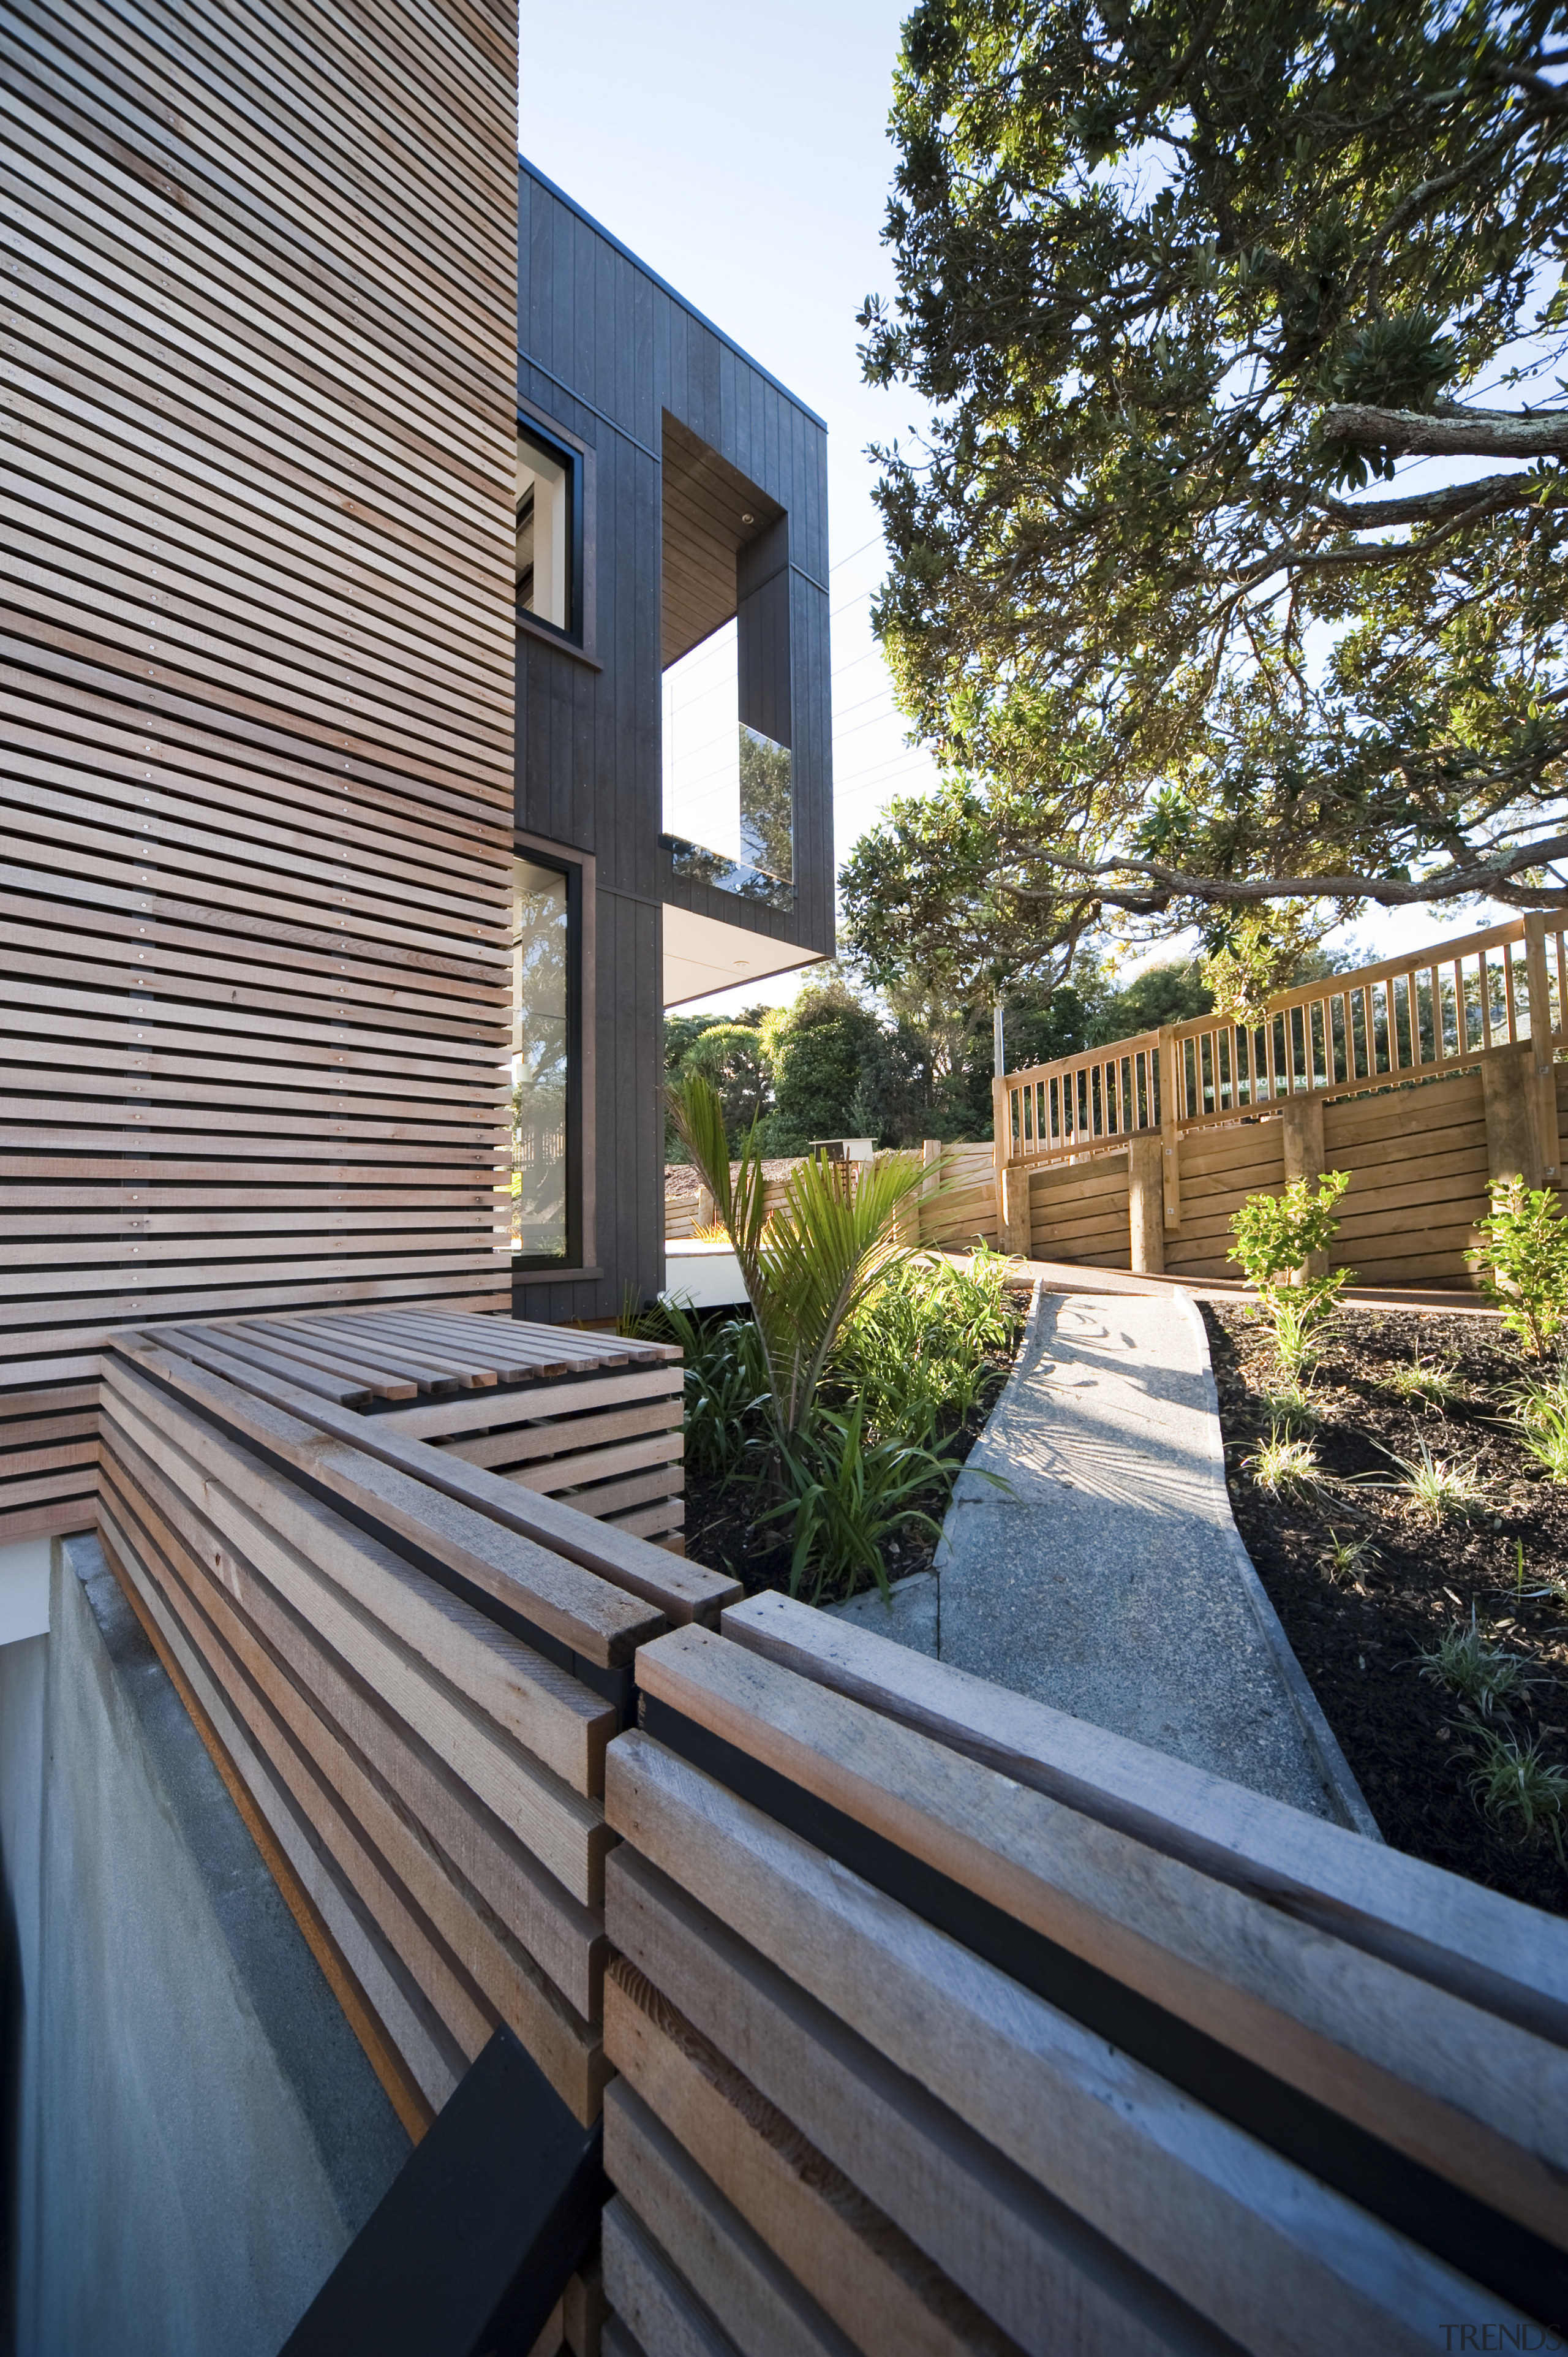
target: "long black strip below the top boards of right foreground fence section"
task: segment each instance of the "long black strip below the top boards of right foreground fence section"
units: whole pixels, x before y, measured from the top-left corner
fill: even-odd
[[[974,1890],[964,1890],[922,1857],[901,1850],[884,1834],[872,1834],[776,1768],[686,1718],[684,1711],[674,1711],[655,1695],[639,1695],[639,1702],[646,1735],[740,1801],[750,1801],[776,1824],[825,1850],[851,1874],[1082,2022],[1094,2036],[1120,2046],[1210,2112],[1219,2112],[1398,2234],[1408,2234],[1448,2267],[1457,2267],[1542,2324],[1568,2331],[1568,2253],[1542,2234],[1488,2209],[1485,2201],[1476,2201],[1474,2194],[1384,2145],[1339,2112],[1276,2079],[1207,2032],[1193,2029],[1153,1999],[1127,1989],[1111,1973],[1085,1963],[1082,1956],[1019,1923]]]

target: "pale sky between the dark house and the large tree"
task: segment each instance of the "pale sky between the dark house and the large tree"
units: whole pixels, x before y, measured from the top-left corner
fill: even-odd
[[[894,283],[879,233],[905,7],[589,0],[575,19],[580,82],[526,66],[519,99],[523,156],[828,420],[839,865],[894,794],[934,780],[929,757],[903,740],[868,620],[884,556],[865,445],[908,438],[920,403],[861,382],[854,323],[863,297]],[[535,66],[566,57],[561,19],[545,19],[538,0],[523,7],[521,33]],[[568,90],[578,90],[571,101]],[[1372,910],[1353,936],[1368,957],[1394,957],[1507,915]],[[799,973],[747,983],[681,1011],[783,1004],[799,983]]]

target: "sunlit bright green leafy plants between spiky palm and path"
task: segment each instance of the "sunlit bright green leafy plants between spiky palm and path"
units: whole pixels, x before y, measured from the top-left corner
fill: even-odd
[[[858,1400],[879,1433],[962,1421],[993,1381],[990,1353],[1016,1329],[1000,1252],[981,1247],[967,1268],[938,1256],[898,1261],[839,1329],[832,1388]]]

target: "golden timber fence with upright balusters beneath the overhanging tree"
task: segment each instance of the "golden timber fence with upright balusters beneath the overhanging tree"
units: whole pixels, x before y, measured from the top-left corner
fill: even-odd
[[[1269,1002],[1007,1072],[993,1183],[1009,1252],[1233,1277],[1247,1193],[1349,1169],[1332,1259],[1368,1285],[1474,1285],[1488,1181],[1561,1186],[1566,940],[1523,917]],[[1535,1018],[1533,1018],[1535,1011]]]

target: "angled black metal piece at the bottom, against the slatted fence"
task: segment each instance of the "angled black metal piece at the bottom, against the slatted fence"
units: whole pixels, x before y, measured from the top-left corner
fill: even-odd
[[[502,2025],[278,2357],[526,2357],[599,2232],[601,2152]]]

